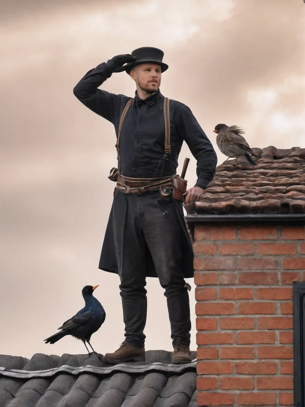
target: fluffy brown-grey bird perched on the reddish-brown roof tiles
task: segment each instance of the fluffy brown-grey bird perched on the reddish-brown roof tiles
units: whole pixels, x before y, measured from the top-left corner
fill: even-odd
[[[242,136],[242,134],[244,134],[243,129],[235,125],[229,127],[224,123],[219,123],[215,126],[213,132],[217,134],[216,143],[218,148],[222,154],[227,155],[228,157],[222,164],[227,162],[229,158],[237,159],[237,157],[245,157],[248,162],[257,165],[251,155],[254,157],[258,156],[251,150],[249,144]]]

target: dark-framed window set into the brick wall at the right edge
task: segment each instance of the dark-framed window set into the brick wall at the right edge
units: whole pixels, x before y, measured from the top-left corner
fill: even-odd
[[[305,282],[293,283],[294,406],[305,405]]]

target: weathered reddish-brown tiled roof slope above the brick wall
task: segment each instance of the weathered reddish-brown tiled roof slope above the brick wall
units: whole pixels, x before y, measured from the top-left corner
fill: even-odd
[[[195,208],[197,214],[288,214],[305,212],[305,149],[253,148],[257,166],[228,160]]]

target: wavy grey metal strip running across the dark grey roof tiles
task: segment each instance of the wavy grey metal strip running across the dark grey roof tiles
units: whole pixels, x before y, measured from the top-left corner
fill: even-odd
[[[15,377],[18,379],[32,379],[33,377],[50,377],[58,373],[69,373],[78,375],[81,373],[91,373],[108,375],[114,372],[126,372],[130,374],[143,374],[145,372],[167,372],[173,374],[181,374],[185,372],[196,372],[196,359],[191,363],[184,365],[172,365],[167,363],[150,363],[150,365],[131,365],[127,363],[120,363],[118,365],[108,367],[97,366],[81,366],[73,367],[63,365],[58,368],[51,368],[45,370],[19,370],[19,369],[6,369],[0,367],[0,376]]]

